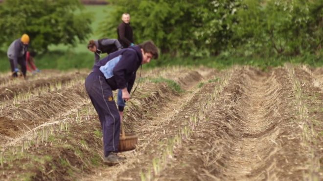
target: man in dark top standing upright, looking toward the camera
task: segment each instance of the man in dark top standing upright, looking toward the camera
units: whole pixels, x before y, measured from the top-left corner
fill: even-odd
[[[117,28],[118,40],[123,48],[128,48],[129,46],[134,45],[134,35],[130,26],[130,15],[128,13],[123,13],[121,20],[122,22]]]

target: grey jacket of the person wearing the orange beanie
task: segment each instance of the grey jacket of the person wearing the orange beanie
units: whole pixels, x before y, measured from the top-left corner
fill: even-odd
[[[7,51],[7,56],[10,60],[13,60],[15,68],[18,68],[18,59],[26,59],[26,52],[28,45],[24,45],[21,39],[14,40]]]

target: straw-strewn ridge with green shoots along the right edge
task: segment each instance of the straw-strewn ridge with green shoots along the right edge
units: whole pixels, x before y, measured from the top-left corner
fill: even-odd
[[[323,175],[320,173],[320,160],[323,156],[320,156],[320,150],[323,150],[323,146],[320,142],[322,143],[323,141],[320,139],[319,133],[323,131],[323,128],[316,126],[320,125],[320,122],[315,118],[317,116],[316,114],[310,116],[309,109],[311,104],[315,104],[315,102],[308,101],[308,99],[311,99],[311,94],[313,94],[313,92],[319,92],[320,90],[317,89],[320,89],[321,87],[316,86],[317,80],[312,78],[312,74],[308,68],[304,66],[302,69],[294,68],[292,65],[288,64],[286,69],[289,72],[290,79],[293,81],[293,92],[296,98],[294,102],[299,113],[297,122],[302,129],[302,142],[307,148],[307,170],[304,172],[303,177],[306,180],[322,180]],[[316,88],[314,88],[313,85]],[[314,94],[314,96],[318,95],[320,94]],[[321,97],[323,97],[322,94]],[[319,103],[322,105],[323,101],[319,101]],[[321,118],[322,117],[323,116],[321,116]]]

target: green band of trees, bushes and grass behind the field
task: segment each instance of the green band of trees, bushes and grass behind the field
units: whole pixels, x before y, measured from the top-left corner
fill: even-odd
[[[323,65],[323,0],[109,1],[85,10],[78,0],[0,3],[0,71],[9,71],[6,50],[26,32],[40,69],[91,68],[87,41],[117,38],[124,12],[135,43],[150,39],[161,49],[160,59],[144,67]]]

